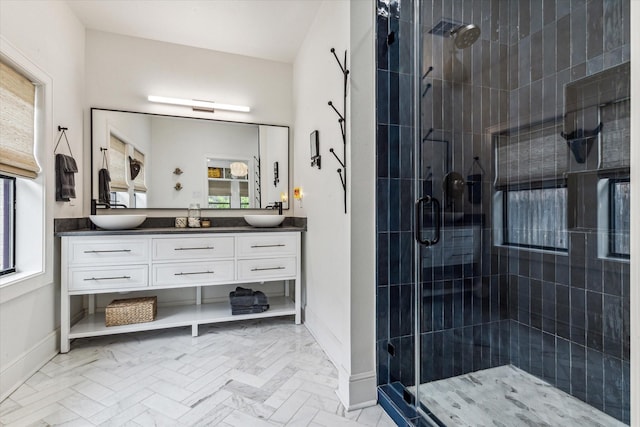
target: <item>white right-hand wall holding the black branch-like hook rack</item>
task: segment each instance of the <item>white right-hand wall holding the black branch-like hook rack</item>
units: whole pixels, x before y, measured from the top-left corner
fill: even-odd
[[[349,2],[325,1],[316,15],[294,62],[294,164],[292,185],[303,189],[296,216],[307,217],[303,237],[304,306],[307,328],[337,365],[341,381],[349,372],[348,325],[350,304],[351,212],[345,215],[343,192],[329,152],[342,156],[338,116],[328,101],[342,110],[342,72],[330,52],[340,58],[349,49]],[[310,166],[309,134],[319,130],[322,169]],[[347,374],[348,375],[348,374]]]

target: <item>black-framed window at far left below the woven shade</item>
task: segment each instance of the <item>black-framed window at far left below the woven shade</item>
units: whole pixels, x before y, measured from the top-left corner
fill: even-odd
[[[0,175],[0,275],[13,273],[15,266],[16,179]]]

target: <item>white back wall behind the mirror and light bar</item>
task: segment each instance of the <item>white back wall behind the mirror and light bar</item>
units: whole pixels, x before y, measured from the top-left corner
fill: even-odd
[[[89,107],[284,126],[293,123],[291,64],[92,30],[87,31],[86,40]],[[248,105],[251,112],[194,112],[187,107],[150,103],[148,95]],[[85,123],[88,129],[88,112]],[[85,139],[88,145],[88,133]],[[88,157],[85,162],[88,164]],[[85,180],[89,182],[88,172]],[[89,207],[88,187],[85,213]],[[150,216],[179,213],[148,212]],[[241,214],[223,211],[207,215]]]

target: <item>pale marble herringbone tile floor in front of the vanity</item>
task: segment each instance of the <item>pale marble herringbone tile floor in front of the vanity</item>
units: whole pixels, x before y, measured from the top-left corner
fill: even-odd
[[[337,372],[290,319],[75,340],[0,403],[3,426],[394,426],[346,412]]]

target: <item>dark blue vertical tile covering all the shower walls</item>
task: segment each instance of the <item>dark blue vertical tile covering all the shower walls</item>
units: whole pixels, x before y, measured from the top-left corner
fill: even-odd
[[[421,107],[423,129],[453,141],[451,169],[464,173],[479,156],[486,173],[482,202],[464,206],[483,218],[478,263],[423,272],[429,280],[421,284],[421,382],[511,363],[629,422],[628,263],[598,258],[589,197],[578,199],[583,214],[568,233],[566,254],[493,247],[494,162],[485,135],[498,124],[562,116],[566,84],[627,62],[629,1],[423,5],[423,34],[442,17],[481,28],[480,39],[454,60],[435,36],[424,38],[424,64],[434,69]],[[378,6],[378,382],[413,385],[412,3]],[[572,172],[585,173],[572,191],[595,194],[588,174],[594,168],[593,156],[572,161]],[[421,184],[428,193],[432,183]]]

